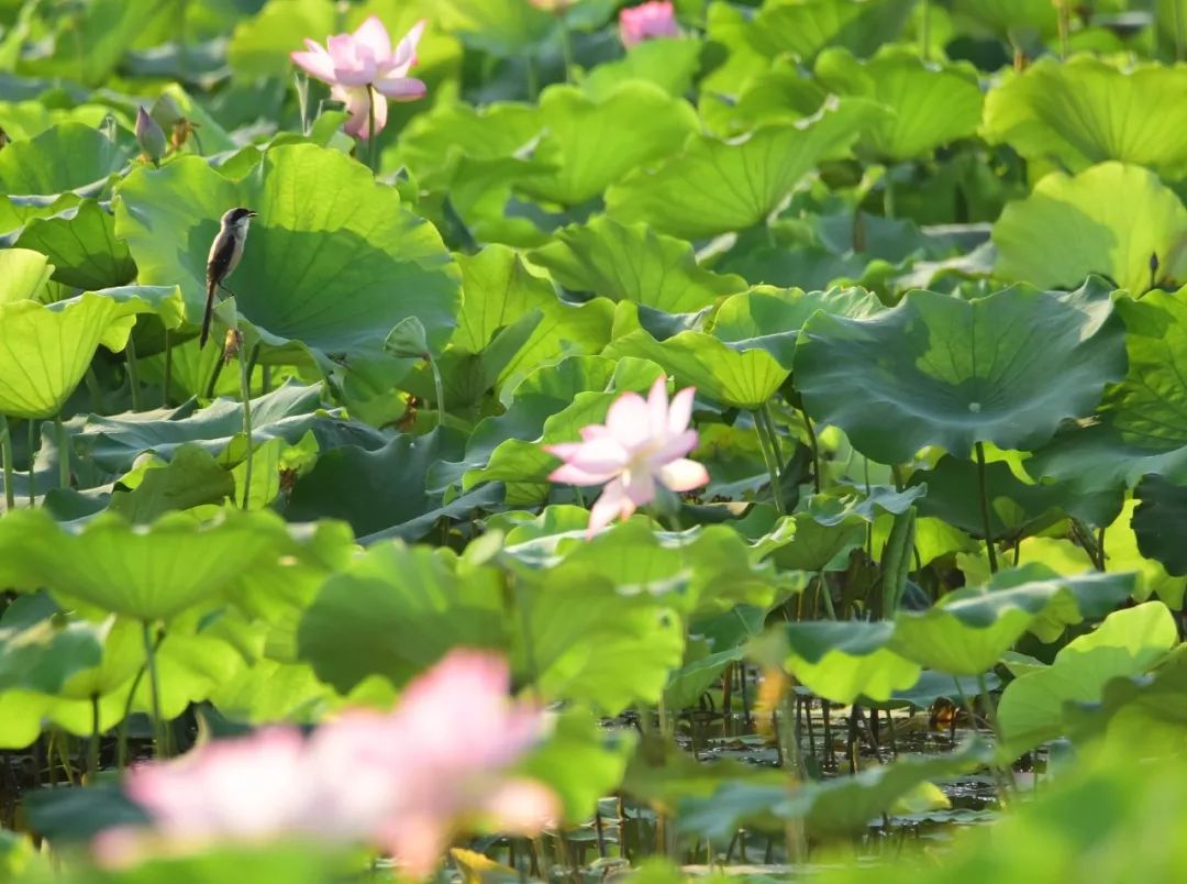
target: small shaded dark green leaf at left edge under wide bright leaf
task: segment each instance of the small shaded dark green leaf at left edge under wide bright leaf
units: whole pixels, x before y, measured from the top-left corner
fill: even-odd
[[[61,690],[75,673],[99,663],[110,627],[61,615],[44,595],[14,600],[0,617],[0,692]]]

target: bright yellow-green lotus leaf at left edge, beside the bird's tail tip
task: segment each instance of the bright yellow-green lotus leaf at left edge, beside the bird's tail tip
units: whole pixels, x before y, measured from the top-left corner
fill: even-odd
[[[138,314],[180,322],[177,288],[85,292],[69,301],[0,304],[0,413],[57,415],[82,380],[99,345],[121,351]]]

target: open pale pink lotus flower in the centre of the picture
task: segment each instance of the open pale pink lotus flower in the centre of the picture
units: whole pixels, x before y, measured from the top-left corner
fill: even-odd
[[[654,500],[656,482],[668,491],[692,491],[709,481],[705,468],[684,456],[697,447],[697,431],[688,429],[694,394],[686,387],[668,405],[667,379],[658,378],[646,402],[639,393],[623,393],[604,425],[582,428],[580,442],[544,447],[564,461],[548,475],[552,481],[608,482],[590,510],[586,536]]]

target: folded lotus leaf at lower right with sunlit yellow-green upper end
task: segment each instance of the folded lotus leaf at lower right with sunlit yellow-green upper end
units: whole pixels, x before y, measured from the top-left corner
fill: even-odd
[[[1005,688],[997,716],[1011,751],[1054,739],[1064,730],[1065,703],[1099,701],[1110,680],[1149,671],[1178,643],[1174,618],[1161,601],[1113,612],[1062,648],[1052,665]]]

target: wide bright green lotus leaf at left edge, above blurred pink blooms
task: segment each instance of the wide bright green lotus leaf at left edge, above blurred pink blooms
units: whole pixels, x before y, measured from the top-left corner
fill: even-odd
[[[44,510],[19,510],[0,519],[0,582],[167,620],[216,601],[245,572],[274,566],[292,547],[284,520],[264,511],[228,511],[204,525],[183,513],[148,526],[101,514],[71,529]]]

